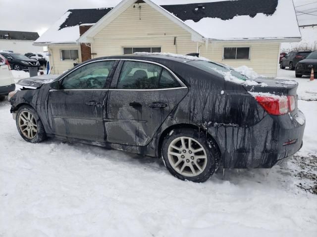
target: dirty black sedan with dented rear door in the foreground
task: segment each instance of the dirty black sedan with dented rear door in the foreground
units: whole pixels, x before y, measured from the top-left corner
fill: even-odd
[[[283,81],[193,56],[121,55],[22,79],[36,89],[9,101],[27,142],[58,137],[162,157],[175,177],[204,182],[220,165],[270,168],[301,148],[298,83]]]

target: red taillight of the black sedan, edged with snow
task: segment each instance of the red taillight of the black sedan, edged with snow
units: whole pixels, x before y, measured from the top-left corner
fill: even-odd
[[[270,115],[285,115],[295,110],[294,96],[255,96],[259,104]]]

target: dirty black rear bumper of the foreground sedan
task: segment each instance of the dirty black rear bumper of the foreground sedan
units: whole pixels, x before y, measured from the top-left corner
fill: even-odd
[[[224,168],[271,168],[291,158],[303,144],[305,116],[265,116],[251,127],[224,128]],[[218,132],[220,132],[218,130]]]

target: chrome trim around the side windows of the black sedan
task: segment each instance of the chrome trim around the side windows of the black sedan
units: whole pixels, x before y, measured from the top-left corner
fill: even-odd
[[[74,91],[85,91],[85,90],[123,90],[123,91],[156,91],[156,90],[173,90],[173,89],[184,89],[184,88],[188,88],[183,81],[181,81],[181,79],[179,79],[169,68],[167,68],[166,66],[159,64],[157,62],[152,62],[152,61],[147,61],[147,60],[140,60],[140,59],[125,59],[125,58],[115,58],[115,59],[99,59],[99,60],[94,60],[88,63],[85,63],[83,65],[80,65],[78,68],[73,69],[72,71],[70,71],[69,73],[67,73],[64,77],[58,79],[58,81],[61,81],[62,79],[64,79],[65,77],[67,77],[69,74],[71,74],[72,72],[76,71],[77,69],[86,66],[88,64],[91,63],[96,63],[96,62],[103,62],[103,61],[135,61],[135,62],[143,62],[143,63],[150,63],[150,64],[155,64],[158,65],[164,69],[166,69],[177,81],[178,83],[180,83],[180,87],[175,87],[175,88],[165,88],[165,89],[67,89],[67,90],[62,90],[62,91],[70,91],[70,90],[74,90]],[[55,91],[55,90],[50,90],[50,91]]]

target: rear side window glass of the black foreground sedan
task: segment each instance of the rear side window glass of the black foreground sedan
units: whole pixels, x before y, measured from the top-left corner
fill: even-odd
[[[156,64],[126,61],[118,80],[118,89],[165,89],[180,87],[179,82]]]

